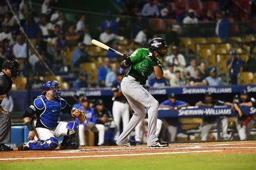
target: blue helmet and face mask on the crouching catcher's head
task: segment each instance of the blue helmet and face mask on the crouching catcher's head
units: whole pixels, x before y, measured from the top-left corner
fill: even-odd
[[[58,81],[47,81],[43,84],[43,92],[44,94],[46,91],[51,90],[53,93],[53,96],[60,99],[60,84]]]

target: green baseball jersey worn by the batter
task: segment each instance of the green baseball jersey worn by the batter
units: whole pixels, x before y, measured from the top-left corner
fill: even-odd
[[[152,53],[149,49],[138,48],[129,56],[132,61],[132,66],[127,74],[136,78],[142,85],[146,84],[147,78],[154,71],[153,62],[150,58],[151,55]],[[158,58],[157,60],[158,65],[162,67],[160,60]]]

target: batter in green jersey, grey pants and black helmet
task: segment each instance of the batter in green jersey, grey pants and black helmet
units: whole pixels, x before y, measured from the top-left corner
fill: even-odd
[[[157,79],[163,78],[162,65],[158,57],[164,57],[166,53],[165,40],[162,38],[154,38],[150,42],[147,49],[139,48],[132,53],[131,56],[125,55],[125,59],[121,63],[122,69],[130,67],[121,82],[121,89],[132,107],[134,114],[129,124],[117,139],[117,145],[136,146],[136,142],[130,141],[127,137],[134,128],[142,121],[145,116],[145,107],[148,110],[149,124],[147,130],[147,146],[164,147],[169,146],[157,138],[157,114],[159,103],[142,85],[146,84],[147,78],[152,72],[155,73]]]

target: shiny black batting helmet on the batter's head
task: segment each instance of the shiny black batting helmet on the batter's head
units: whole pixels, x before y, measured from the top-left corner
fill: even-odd
[[[164,57],[165,52],[162,50],[166,50],[168,46],[165,44],[165,40],[163,38],[154,38],[150,41],[149,49],[152,52],[157,52],[160,57]]]

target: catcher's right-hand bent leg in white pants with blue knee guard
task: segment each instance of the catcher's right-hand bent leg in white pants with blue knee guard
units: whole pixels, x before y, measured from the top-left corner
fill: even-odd
[[[77,149],[78,148],[79,145],[76,142],[72,141],[73,139],[77,138],[77,134],[78,134],[78,124],[76,122],[66,123],[61,121],[56,127],[54,134],[56,138],[64,136],[63,141],[60,144],[60,149],[66,149],[66,148]]]

